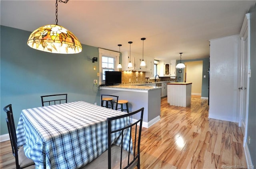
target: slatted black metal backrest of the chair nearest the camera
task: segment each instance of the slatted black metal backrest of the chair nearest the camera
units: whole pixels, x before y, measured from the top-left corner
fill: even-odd
[[[107,118],[107,122],[108,122],[108,169],[112,168],[112,164],[111,164],[111,135],[119,132],[120,137],[121,137],[121,149],[120,149],[120,169],[126,169],[126,168],[134,168],[135,166],[137,166],[138,169],[140,169],[140,138],[141,138],[141,130],[142,130],[142,120],[143,120],[143,112],[144,112],[144,108],[141,108],[139,110],[136,110],[134,112],[128,113],[128,114],[124,114],[121,116],[116,116],[116,117],[111,117],[111,118]],[[127,126],[120,128],[118,130],[116,130],[116,126],[113,127],[111,124],[113,122],[113,120],[120,120],[121,118],[129,118],[131,121],[131,118],[133,118],[133,121],[130,122],[130,124],[128,124]],[[138,119],[138,120],[137,120]],[[118,124],[118,122],[117,122]],[[126,132],[130,132],[130,138],[129,140],[127,139],[123,139],[124,138],[124,134]],[[131,143],[132,141],[132,146]],[[123,154],[125,153],[123,148],[125,144],[129,144],[128,145],[128,152],[127,152],[127,156],[124,157]],[[131,153],[133,155],[131,155]],[[125,161],[125,163],[123,163]],[[124,166],[122,166],[124,165]]]

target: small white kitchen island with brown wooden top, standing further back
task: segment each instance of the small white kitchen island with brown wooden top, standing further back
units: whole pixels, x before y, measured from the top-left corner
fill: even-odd
[[[190,106],[191,87],[192,83],[167,83],[167,102],[173,106]]]

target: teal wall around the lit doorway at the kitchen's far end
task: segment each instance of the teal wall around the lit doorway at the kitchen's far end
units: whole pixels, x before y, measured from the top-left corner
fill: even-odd
[[[202,59],[190,59],[190,60],[182,60],[182,63],[185,62],[193,62],[193,61],[203,61],[203,73],[202,75],[206,75],[206,78],[202,77],[202,93],[201,96],[202,97],[208,97],[208,81],[209,81],[209,73],[208,73],[208,69],[209,69],[209,62],[210,62],[210,58],[202,58]],[[176,61],[176,64],[180,63],[180,60]],[[177,81],[178,82],[184,82],[184,71],[182,71],[182,73],[178,72],[179,69],[176,69],[176,75],[177,75]]]

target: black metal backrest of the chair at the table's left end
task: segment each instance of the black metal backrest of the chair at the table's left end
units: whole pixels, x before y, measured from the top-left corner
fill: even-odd
[[[20,165],[19,165],[19,159],[18,159],[16,128],[15,128],[13,114],[12,114],[12,104],[5,106],[4,111],[7,114],[6,122],[7,122],[8,132],[9,132],[10,141],[12,145],[12,154],[15,157],[16,168],[18,169],[20,168]]]

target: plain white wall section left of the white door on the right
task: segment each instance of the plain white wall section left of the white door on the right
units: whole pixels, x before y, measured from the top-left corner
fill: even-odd
[[[238,122],[239,35],[210,40],[209,118]]]

